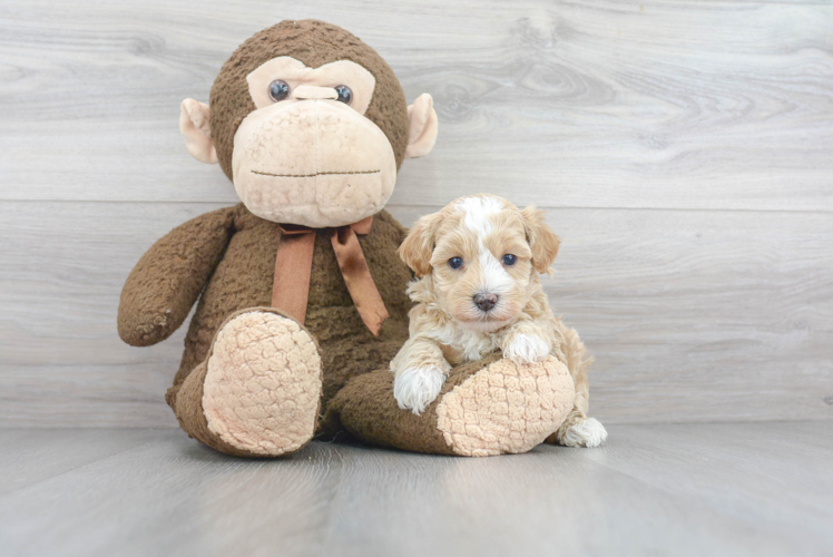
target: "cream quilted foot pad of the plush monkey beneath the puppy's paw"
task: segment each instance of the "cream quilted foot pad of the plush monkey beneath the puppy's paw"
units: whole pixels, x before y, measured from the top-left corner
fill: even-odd
[[[575,395],[567,367],[555,358],[525,365],[504,358],[442,398],[437,427],[461,456],[526,452],[558,429]]]

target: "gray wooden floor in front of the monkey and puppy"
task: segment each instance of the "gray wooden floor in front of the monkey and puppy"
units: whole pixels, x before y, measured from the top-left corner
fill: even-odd
[[[831,555],[824,422],[612,426],[462,459],[175,429],[0,430],[0,555]]]

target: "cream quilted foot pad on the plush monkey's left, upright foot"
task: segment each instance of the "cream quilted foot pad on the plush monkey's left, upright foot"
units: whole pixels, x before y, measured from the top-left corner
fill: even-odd
[[[214,342],[203,390],[208,429],[254,455],[306,444],[321,399],[321,356],[297,322],[253,311],[226,323]]]

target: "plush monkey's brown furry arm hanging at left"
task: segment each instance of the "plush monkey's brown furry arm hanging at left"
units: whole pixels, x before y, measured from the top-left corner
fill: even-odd
[[[164,341],[182,325],[223,258],[236,207],[200,215],[163,236],[121,290],[118,333],[133,346]]]

